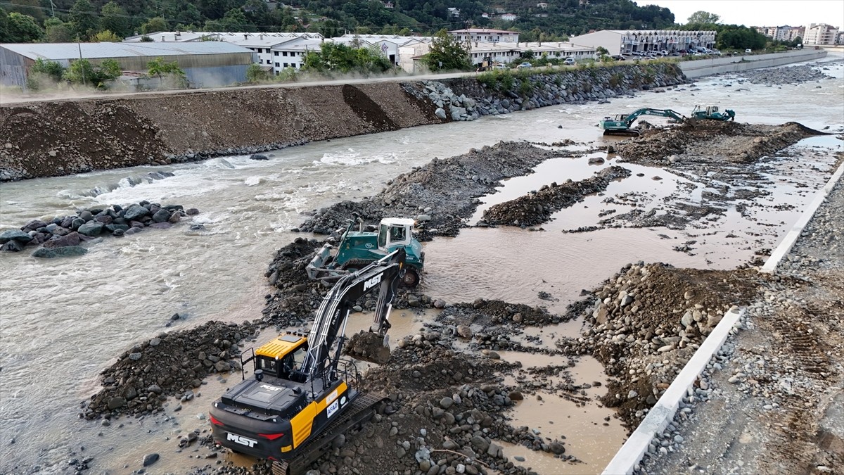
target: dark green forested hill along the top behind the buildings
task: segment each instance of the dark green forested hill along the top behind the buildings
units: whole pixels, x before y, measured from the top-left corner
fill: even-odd
[[[647,3],[643,0],[641,3]],[[450,9],[453,8],[453,9]],[[506,21],[501,14],[515,14]],[[485,18],[489,17],[489,18]],[[0,0],[0,42],[89,40],[159,30],[430,34],[468,26],[553,41],[602,29],[674,24],[668,8],[630,0]]]

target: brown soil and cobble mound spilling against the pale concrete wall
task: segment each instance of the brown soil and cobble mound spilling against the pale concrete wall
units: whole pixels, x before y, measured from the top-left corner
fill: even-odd
[[[755,270],[677,269],[628,265],[593,291],[581,339],[557,341],[571,355],[592,354],[609,376],[608,407],[635,429],[674,376],[733,305],[760,292]]]

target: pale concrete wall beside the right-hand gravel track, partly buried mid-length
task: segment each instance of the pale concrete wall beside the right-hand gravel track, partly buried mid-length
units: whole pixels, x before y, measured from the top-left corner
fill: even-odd
[[[823,188],[818,190],[812,202],[803,210],[803,214],[794,224],[791,231],[788,232],[786,238],[774,249],[771,257],[768,258],[765,265],[760,269],[762,272],[773,272],[776,266],[785,258],[786,254],[791,250],[803,228],[812,220],[815,211],[818,210],[820,204],[823,203],[826,195],[830,193],[836,183],[844,174],[844,164],[838,167],[829,182]],[[663,396],[660,396],[657,403],[651,408],[644,419],[642,419],[639,427],[630,434],[630,437],[625,441],[625,445],[615,454],[613,460],[609,461],[609,465],[603,469],[602,475],[621,475],[622,473],[630,475],[636,469],[642,457],[647,452],[647,447],[656,434],[663,432],[668,427],[668,423],[674,420],[674,415],[679,409],[679,403],[688,391],[693,390],[692,386],[695,380],[706,369],[706,363],[709,363],[719,349],[721,349],[724,341],[727,340],[734,325],[738,322],[741,315],[744,314],[744,308],[730,309],[724,318],[712,330],[712,333],[706,337],[700,348],[686,363],[684,368],[680,371],[668,389],[665,390]]]

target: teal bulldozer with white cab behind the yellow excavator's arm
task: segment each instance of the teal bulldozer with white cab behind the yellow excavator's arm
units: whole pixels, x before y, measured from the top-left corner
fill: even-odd
[[[378,232],[364,232],[362,222],[358,231],[354,231],[355,221],[350,221],[336,246],[327,243],[317,251],[306,267],[308,277],[334,281],[403,248],[406,256],[401,283],[403,287],[416,287],[425,265],[425,252],[414,238],[414,224],[412,219],[384,218]]]

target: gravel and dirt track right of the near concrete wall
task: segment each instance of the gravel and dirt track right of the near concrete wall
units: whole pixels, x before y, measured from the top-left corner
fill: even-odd
[[[844,472],[842,239],[839,182],[638,472]]]

